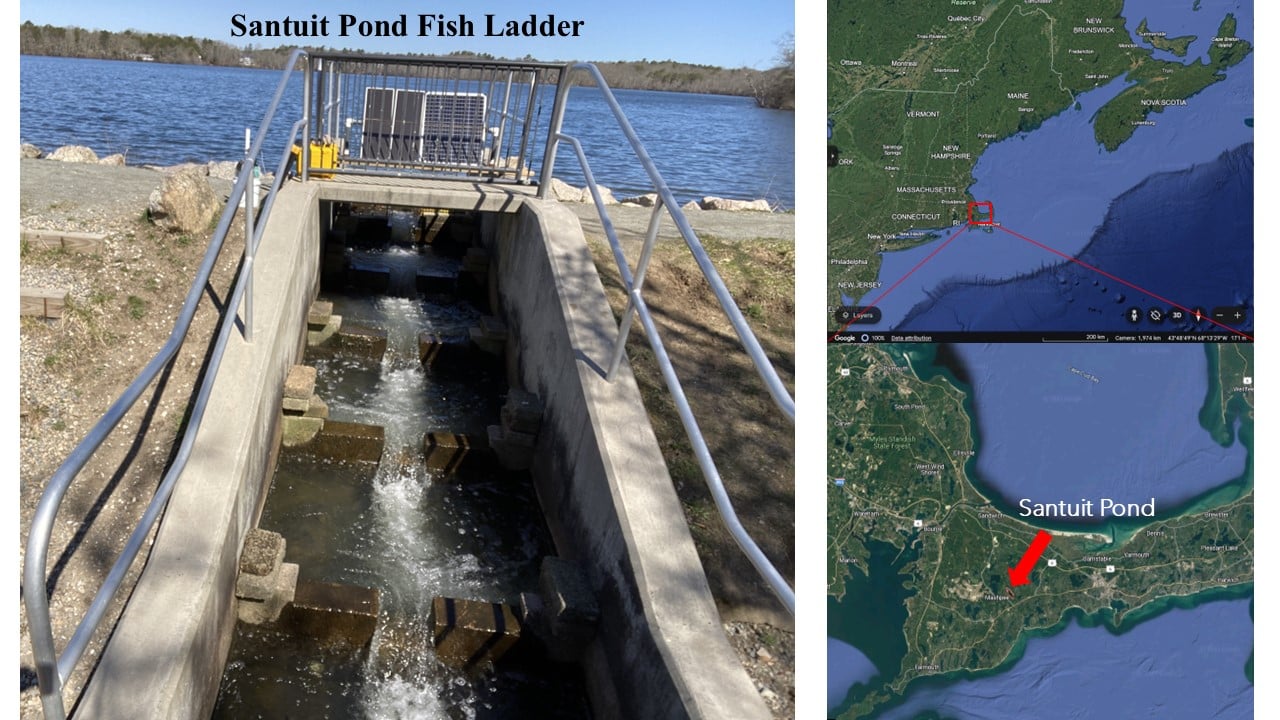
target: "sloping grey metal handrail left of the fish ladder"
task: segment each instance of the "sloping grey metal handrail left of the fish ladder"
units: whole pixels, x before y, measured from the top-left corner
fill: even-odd
[[[81,619],[79,624],[76,626],[76,632],[67,643],[61,655],[59,655],[54,647],[52,621],[49,615],[49,596],[45,591],[45,573],[49,561],[49,542],[52,534],[54,519],[61,506],[63,497],[67,495],[67,491],[76,475],[79,474],[79,471],[88,462],[90,457],[93,456],[106,437],[116,428],[124,415],[129,411],[134,402],[137,402],[138,397],[141,397],[142,392],[177,356],[178,348],[182,346],[188,331],[191,329],[191,322],[195,318],[196,306],[200,302],[200,297],[205,292],[205,286],[212,274],[214,264],[221,252],[228,231],[230,229],[232,219],[234,218],[237,206],[239,205],[239,200],[251,187],[251,177],[253,174],[252,160],[261,154],[262,142],[271,122],[275,118],[275,113],[280,99],[284,95],[289,74],[293,72],[293,67],[297,64],[297,60],[305,55],[306,51],[301,49],[294,50],[293,54],[289,55],[284,76],[280,78],[275,96],[271,99],[271,104],[268,106],[262,123],[259,127],[257,138],[244,155],[244,163],[241,165],[241,172],[236,178],[234,186],[232,187],[227,206],[223,210],[223,215],[216,229],[214,231],[212,238],[209,243],[209,250],[205,252],[204,261],[196,273],[191,290],[187,292],[187,299],[178,314],[174,328],[169,333],[169,340],[165,341],[165,345],[159,352],[156,352],[155,357],[147,363],[147,365],[142,369],[142,373],[140,373],[138,377],[129,383],[120,397],[108,409],[106,414],[102,415],[97,424],[93,425],[87,436],[84,436],[84,439],[82,439],[67,460],[63,461],[54,475],[49,479],[49,483],[40,497],[40,502],[36,506],[36,512],[32,516],[31,529],[27,537],[27,555],[23,561],[22,596],[23,603],[27,607],[27,625],[28,634],[31,635],[32,656],[36,662],[36,679],[40,685],[40,701],[46,719],[65,719],[67,710],[63,703],[63,683],[68,676],[70,676],[70,673],[76,669],[76,665],[84,653],[84,650],[88,647],[90,639],[101,625],[108,605],[111,598],[115,597],[115,593],[119,592],[124,575],[137,559],[138,551],[142,548],[146,537],[151,533],[152,527],[160,516],[161,509],[168,502],[169,495],[173,492],[178,475],[180,475],[183,468],[186,468],[196,434],[200,430],[201,420],[204,419],[205,406],[209,401],[214,379],[218,377],[218,368],[227,347],[227,340],[230,336],[230,329],[236,325],[234,319],[242,299],[246,301],[243,325],[244,341],[251,341],[251,328],[253,320],[250,300],[251,296],[248,293],[252,292],[252,259],[257,242],[261,238],[262,229],[266,225],[266,218],[274,204],[275,193],[279,191],[291,160],[289,146],[292,145],[292,141],[297,136],[298,131],[306,126],[306,117],[294,123],[289,141],[285,142],[284,156],[282,158],[279,169],[275,173],[275,182],[273,183],[271,191],[269,192],[268,199],[262,205],[262,211],[257,218],[256,229],[253,229],[255,223],[252,214],[246,213],[244,263],[236,278],[233,295],[227,304],[228,311],[223,316],[218,342],[214,347],[212,355],[210,356],[209,369],[205,373],[205,379],[201,383],[195,405],[192,406],[191,418],[187,423],[186,430],[183,432],[178,455],[174,457],[169,471],[156,488],[156,493],[147,505],[142,519],[129,536],[124,551],[111,566],[111,570],[108,573],[102,587],[99,588],[97,594],[93,596],[93,601],[90,603],[84,618]]]

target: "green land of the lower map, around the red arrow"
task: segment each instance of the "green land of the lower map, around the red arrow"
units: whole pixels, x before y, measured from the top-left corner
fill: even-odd
[[[1215,378],[1201,424],[1228,445],[1239,423],[1252,442],[1252,386],[1242,384],[1252,348],[1206,350]],[[1169,598],[1249,592],[1248,473],[1175,514],[1048,527],[1053,539],[1030,584],[1011,588],[1006,569],[1046,520],[1020,518],[1018,506],[975,487],[970,398],[945,375],[923,379],[901,346],[828,354],[828,594],[842,597],[854,574],[869,573],[872,543],[908,559],[901,665],[864,688],[842,717],[868,716],[920,678],[1000,667],[1020,652],[1025,633],[1060,626],[1069,612],[1123,628]]]

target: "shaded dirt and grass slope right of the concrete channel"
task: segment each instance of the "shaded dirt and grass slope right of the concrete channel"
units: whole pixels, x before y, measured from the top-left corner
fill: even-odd
[[[614,215],[635,266],[648,210]],[[795,386],[795,242],[786,215],[696,213],[691,223],[783,383]],[[708,217],[716,225],[708,227]],[[732,217],[732,218],[730,218]],[[595,227],[599,220],[595,219]],[[584,222],[616,315],[626,310],[620,273],[603,233]],[[795,583],[794,427],[773,404],[739,347],[732,325],[669,222],[644,281],[689,404],[746,532]],[[713,232],[722,236],[710,234]],[[781,237],[760,236],[774,232]],[[727,237],[726,237],[727,236]],[[672,482],[685,509],[726,633],[776,717],[794,716],[794,620],[728,534],[707,489],[671,393],[636,322],[627,356]]]

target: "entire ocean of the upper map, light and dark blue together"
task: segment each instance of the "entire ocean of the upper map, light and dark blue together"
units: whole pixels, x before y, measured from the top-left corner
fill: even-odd
[[[1238,20],[1236,36],[1252,42],[1253,6],[1244,0],[1203,0],[1199,10],[1192,10],[1189,1],[1129,0],[1124,9],[1130,32],[1147,18],[1151,28],[1170,36],[1197,35],[1199,40],[1188,58],[1178,59],[1183,63],[1203,56],[1228,13]],[[1165,55],[1161,58],[1172,59]],[[1078,96],[1075,106],[1039,128],[987,147],[978,159],[969,191],[979,201],[993,202],[996,220],[1004,227],[1071,256],[1091,247],[1098,263],[1121,263],[1114,270],[1106,264],[1101,269],[1172,304],[1211,309],[1210,304],[1219,300],[1251,302],[1252,54],[1228,69],[1226,79],[1194,95],[1188,106],[1153,113],[1149,119],[1156,122],[1155,127],[1138,128],[1117,150],[1107,152],[1094,138],[1093,117],[1129,82],[1119,77]],[[1187,172],[1190,174],[1183,174]],[[1234,187],[1213,186],[1224,172],[1239,176]],[[1126,193],[1143,192],[1143,201],[1153,204],[1143,217],[1174,214],[1190,219],[1190,224],[1166,223],[1158,237],[1143,232],[1137,238],[1117,238],[1117,233],[1130,232],[1139,220],[1129,219],[1132,208],[1112,205]],[[1153,190],[1166,195],[1153,197]],[[1198,193],[1206,191],[1215,193],[1211,208],[1199,204]],[[1193,214],[1198,215],[1192,218]],[[1111,225],[1110,236],[1105,224]],[[906,275],[954,229],[937,232],[941,237],[934,242],[883,256],[878,279],[884,287]],[[1124,331],[1134,329],[1125,320],[1130,305],[1166,306],[1114,282],[1093,286],[1094,279],[1103,278],[1083,269],[1087,275],[1071,274],[1065,283],[1059,282],[1061,278],[1052,272],[1064,263],[1062,258],[1005,232],[969,229],[878,302],[883,313],[881,327],[1018,331],[1075,329],[1087,324],[1091,329]],[[1206,265],[1215,274],[1198,275]],[[1147,269],[1143,282],[1125,275],[1140,272],[1140,266]],[[1025,300],[1023,291],[1043,291],[1047,286],[1005,284],[1037,273],[1059,282],[1056,292],[1033,293]],[[1087,282],[1075,284],[1075,279],[1085,277]],[[865,304],[879,292],[849,300]],[[1119,302],[1117,295],[1124,296]],[[1020,307],[1006,307],[1011,302]]]

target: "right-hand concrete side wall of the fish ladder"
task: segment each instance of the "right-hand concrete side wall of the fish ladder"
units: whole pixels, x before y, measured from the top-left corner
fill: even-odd
[[[494,224],[520,380],[547,405],[539,500],[600,602],[584,662],[596,715],[769,717],[724,637],[630,366],[604,380],[617,325],[576,215],[526,200]]]

